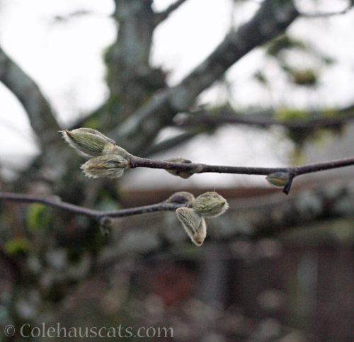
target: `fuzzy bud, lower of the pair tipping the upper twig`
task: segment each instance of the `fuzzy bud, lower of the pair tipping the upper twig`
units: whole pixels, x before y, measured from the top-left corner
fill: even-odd
[[[123,156],[117,154],[106,154],[105,156],[95,156],[81,165],[81,170],[91,178],[119,178],[124,169],[129,168],[130,163]]]

